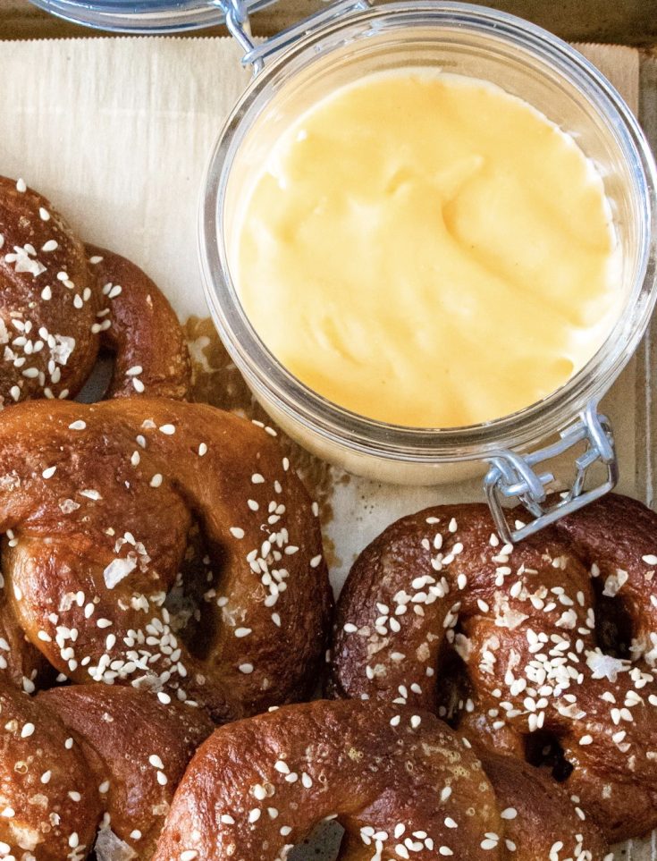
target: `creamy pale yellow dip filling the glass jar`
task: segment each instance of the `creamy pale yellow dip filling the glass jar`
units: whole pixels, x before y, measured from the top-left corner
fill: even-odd
[[[575,141],[484,81],[386,72],[277,139],[241,208],[235,281],[292,374],[407,426],[552,393],[619,313],[602,180]]]

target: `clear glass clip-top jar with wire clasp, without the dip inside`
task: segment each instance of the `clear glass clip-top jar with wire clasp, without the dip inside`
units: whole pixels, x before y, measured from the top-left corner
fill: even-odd
[[[80,6],[76,0],[34,2],[69,13],[69,7]],[[88,5],[93,4],[86,0]],[[105,0],[97,5],[105,11],[115,7],[115,12],[126,4]],[[342,0],[260,44],[248,28],[248,11],[257,4],[244,0],[131,0],[129,5],[138,12],[133,26],[125,24],[125,13],[122,21],[132,30],[144,30],[143,13],[156,7],[160,30],[166,24],[162,16],[171,16],[173,6],[184,26],[193,25],[194,16],[207,22],[207,16],[223,12],[245,51],[243,63],[253,68],[254,78],[223,126],[207,170],[201,258],[206,298],[223,342],[282,428],[324,460],[381,481],[441,484],[483,473],[487,466],[485,493],[505,541],[516,542],[610,491],[618,464],[611,426],[598,404],[636,350],[653,311],[657,195],[650,148],[609,81],[545,30],[470,4],[411,0],[370,7],[366,0]],[[253,181],[254,165],[261,164],[277,133],[334,88],[400,67],[446,69],[492,81],[523,98],[577,139],[601,174],[611,206],[625,300],[607,340],[543,401],[481,425],[393,426],[326,401],[265,348],[241,307],[229,266],[232,225],[239,221],[235,214]],[[503,349],[513,332],[499,337]],[[574,480],[566,493],[549,496],[547,462],[565,453],[574,460]],[[521,502],[527,522],[510,529],[504,502]]]

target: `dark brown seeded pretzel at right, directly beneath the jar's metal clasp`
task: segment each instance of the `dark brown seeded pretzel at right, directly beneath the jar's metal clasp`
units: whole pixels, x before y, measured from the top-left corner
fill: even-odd
[[[609,840],[643,834],[657,825],[655,550],[657,515],[614,495],[515,547],[482,505],[400,519],[350,572],[330,688],[436,710],[481,751],[551,765]],[[601,649],[625,626],[631,661]]]

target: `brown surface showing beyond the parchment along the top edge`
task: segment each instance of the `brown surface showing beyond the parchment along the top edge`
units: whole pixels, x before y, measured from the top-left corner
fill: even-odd
[[[279,0],[257,13],[254,31],[269,35],[282,30],[320,5],[321,0]],[[570,41],[657,44],[657,0],[494,0],[487,5],[529,18]],[[0,38],[88,35],[88,30],[43,12],[29,0],[0,0]]]

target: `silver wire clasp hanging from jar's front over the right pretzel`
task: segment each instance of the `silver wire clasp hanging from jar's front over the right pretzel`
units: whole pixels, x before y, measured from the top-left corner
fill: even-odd
[[[575,460],[572,486],[569,491],[549,499],[546,488],[554,477],[550,472],[536,472],[535,466],[568,452],[578,443],[585,443],[585,452]],[[501,540],[510,544],[533,535],[571,511],[577,511],[609,493],[619,480],[611,424],[608,418],[598,413],[598,404],[594,402],[588,404],[575,424],[561,431],[556,443],[526,455],[503,449],[487,460],[492,465],[484,478],[488,505]],[[606,467],[606,478],[587,488],[586,473],[595,463]],[[511,529],[502,507],[504,500],[520,502],[532,519]]]

